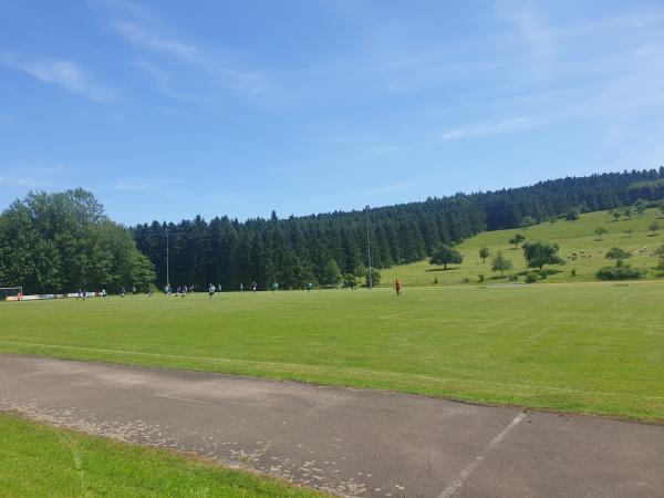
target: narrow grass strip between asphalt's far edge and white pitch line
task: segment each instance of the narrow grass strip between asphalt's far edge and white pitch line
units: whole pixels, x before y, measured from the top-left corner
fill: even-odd
[[[581,415],[592,416],[599,418],[611,418],[625,422],[644,423],[651,425],[664,425],[664,416],[650,415],[644,413],[643,409],[629,409],[625,408],[624,404],[611,404],[596,405],[592,402],[583,402],[583,400],[571,401],[569,398],[570,393],[582,394],[582,391],[575,390],[558,390],[556,387],[540,386],[539,392],[523,393],[523,385],[517,384],[519,388],[517,393],[509,393],[507,384],[505,393],[496,393],[497,383],[484,383],[491,387],[486,391],[478,391],[477,387],[473,387],[473,380],[444,380],[430,377],[432,384],[436,382],[442,384],[456,383],[456,387],[450,386],[438,386],[428,385],[425,386],[422,383],[417,383],[417,378],[426,378],[425,376],[413,374],[408,378],[407,374],[395,373],[395,372],[380,372],[380,371],[357,371],[354,369],[343,367],[330,367],[322,365],[305,365],[305,364],[289,364],[278,362],[259,362],[259,361],[242,361],[234,359],[198,359],[200,363],[183,362],[183,364],[174,364],[173,362],[166,362],[165,357],[177,357],[180,360],[191,359],[190,356],[183,355],[164,355],[154,353],[143,352],[118,352],[122,353],[122,357],[108,356],[108,350],[104,351],[104,354],[95,354],[95,349],[91,347],[76,347],[76,346],[62,346],[62,345],[37,345],[31,344],[30,346],[17,346],[6,347],[7,341],[0,341],[0,353],[3,354],[17,354],[17,355],[30,355],[48,357],[53,360],[63,361],[82,361],[82,362],[94,362],[94,363],[110,363],[114,365],[128,365],[134,367],[146,367],[146,369],[164,369],[170,371],[193,371],[201,373],[212,373],[219,375],[237,375],[243,377],[261,378],[274,382],[297,382],[301,384],[309,384],[313,386],[324,387],[341,387],[341,388],[353,388],[353,390],[371,390],[381,391],[386,393],[408,394],[427,396],[432,398],[442,398],[454,401],[457,403],[466,403],[478,406],[504,406],[513,407],[531,412],[543,412],[553,414],[567,414],[567,415]],[[14,343],[15,344],[15,343]],[[45,351],[50,350],[50,351]],[[53,350],[60,350],[53,352]],[[82,350],[82,353],[76,353],[75,350]],[[136,356],[135,361],[127,360],[126,355]],[[147,359],[156,359],[156,361],[147,361]],[[196,359],[196,357],[195,357]],[[232,365],[235,363],[235,365]],[[277,365],[281,366],[282,370],[256,370],[249,366],[242,366],[248,364]],[[291,366],[291,370],[287,370],[283,366]],[[294,369],[297,367],[297,369]],[[330,377],[325,374],[312,373],[315,371],[336,371],[338,373],[346,374],[342,377]],[[376,378],[361,377],[357,372],[371,372],[372,374],[383,375],[390,378],[390,381],[381,381]],[[395,378],[397,381],[395,381]],[[413,380],[415,378],[415,380]],[[466,385],[460,386],[460,384]],[[483,382],[480,381],[480,384]],[[558,397],[552,394],[543,394],[542,391],[563,391],[567,394],[559,395]],[[596,393],[590,392],[592,395],[605,394],[606,397],[621,397],[624,394],[621,393]],[[636,398],[641,396],[634,396]],[[658,398],[658,397],[657,397]]]

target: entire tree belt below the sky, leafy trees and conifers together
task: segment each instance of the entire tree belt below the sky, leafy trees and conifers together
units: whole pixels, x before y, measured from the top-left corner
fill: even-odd
[[[30,194],[0,215],[0,287],[25,292],[118,291],[166,284],[209,283],[224,290],[279,282],[299,289],[330,283],[330,268],[363,280],[367,232],[372,267],[417,261],[442,242],[456,243],[484,230],[537,222],[571,208],[612,209],[664,196],[664,167],[540,181],[529,187],[457,194],[388,207],[243,222],[226,216],[178,224],[153,221],[125,228],[111,221],[82,189]],[[334,273],[334,271],[332,272]]]

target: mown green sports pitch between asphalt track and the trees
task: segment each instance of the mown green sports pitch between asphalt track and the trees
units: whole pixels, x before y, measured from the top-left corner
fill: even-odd
[[[664,421],[664,282],[0,303],[0,351]]]

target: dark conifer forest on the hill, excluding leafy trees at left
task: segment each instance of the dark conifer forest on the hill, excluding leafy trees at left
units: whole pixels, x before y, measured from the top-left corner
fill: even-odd
[[[343,273],[366,271],[366,234],[373,267],[417,261],[440,242],[459,242],[484,230],[541,221],[569,209],[595,211],[658,199],[664,167],[541,181],[529,187],[429,198],[365,211],[330,212],[240,222],[200,217],[179,224],[133,228],[138,248],[154,262],[159,286],[166,283],[166,231],[170,240],[170,282],[238,289],[257,281],[264,289],[330,280],[331,260]],[[334,264],[332,264],[334,267]]]

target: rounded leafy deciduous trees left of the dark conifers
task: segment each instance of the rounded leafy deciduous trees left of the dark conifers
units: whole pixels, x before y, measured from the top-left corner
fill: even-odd
[[[110,220],[89,191],[31,193],[0,215],[0,287],[118,292],[147,290],[154,281],[154,264],[132,232]]]

